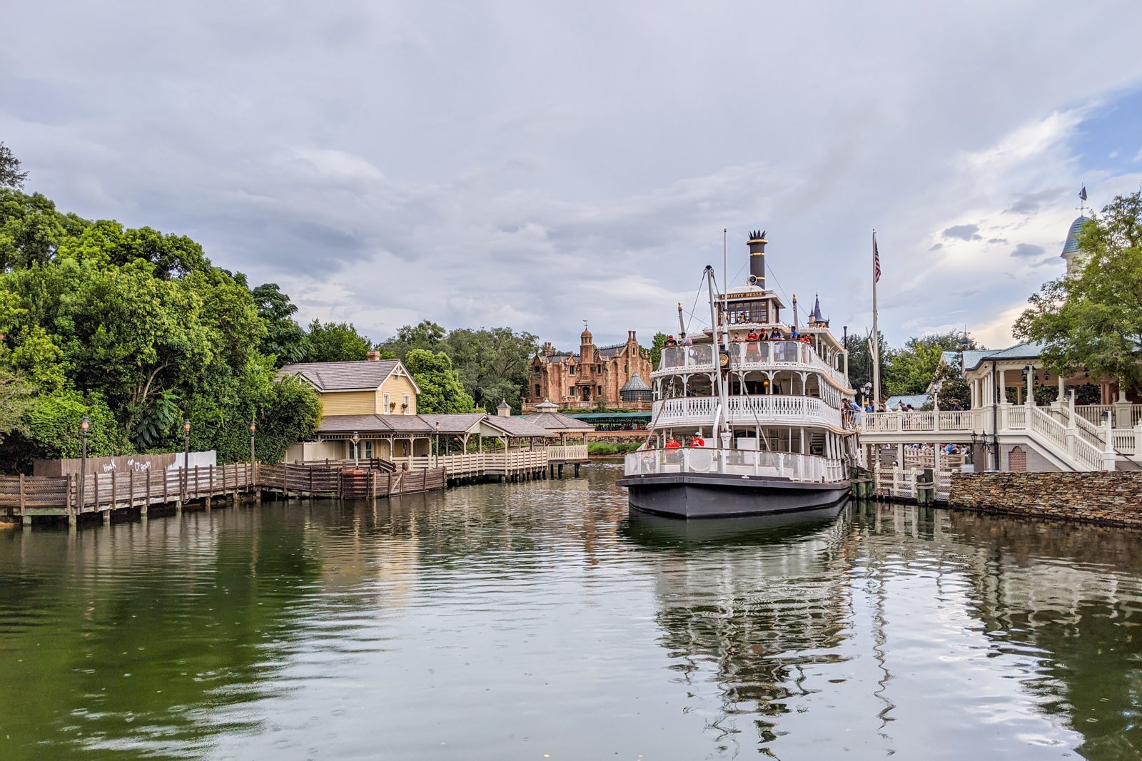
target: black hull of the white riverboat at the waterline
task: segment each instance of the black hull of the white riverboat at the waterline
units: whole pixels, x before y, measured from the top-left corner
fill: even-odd
[[[671,518],[725,518],[814,510],[849,495],[849,481],[811,484],[723,473],[621,478],[630,507]]]

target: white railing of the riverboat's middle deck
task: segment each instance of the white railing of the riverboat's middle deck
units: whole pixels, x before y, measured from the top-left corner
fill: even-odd
[[[709,426],[717,406],[714,396],[682,396],[654,403],[654,427]],[[732,426],[831,426],[841,428],[841,411],[815,396],[762,394],[731,396],[729,419]]]

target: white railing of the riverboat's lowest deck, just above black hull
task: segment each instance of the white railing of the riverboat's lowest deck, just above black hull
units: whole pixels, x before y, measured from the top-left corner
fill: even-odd
[[[756,452],[714,447],[638,450],[626,455],[627,476],[658,473],[730,473],[788,478],[813,484],[845,480],[847,470],[841,460],[791,452]]]

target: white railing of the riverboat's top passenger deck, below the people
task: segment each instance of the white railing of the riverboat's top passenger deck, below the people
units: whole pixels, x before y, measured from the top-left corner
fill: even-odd
[[[799,341],[743,341],[730,345],[730,369],[734,372],[803,371],[805,366],[825,373],[837,386],[851,390],[845,374],[830,367],[809,343]],[[713,373],[714,346],[698,343],[662,349],[659,369],[651,373],[651,378],[686,371]]]

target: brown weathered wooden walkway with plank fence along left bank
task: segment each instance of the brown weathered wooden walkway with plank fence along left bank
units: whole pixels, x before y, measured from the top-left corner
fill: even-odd
[[[393,471],[324,465],[210,465],[185,470],[112,471],[79,476],[0,476],[0,517],[19,518],[25,526],[37,517],[66,517],[75,525],[85,515],[111,520],[116,510],[146,516],[152,507],[185,504],[209,509],[217,500],[240,495],[260,499],[266,492],[283,496],[376,499],[442,489],[444,468]]]

